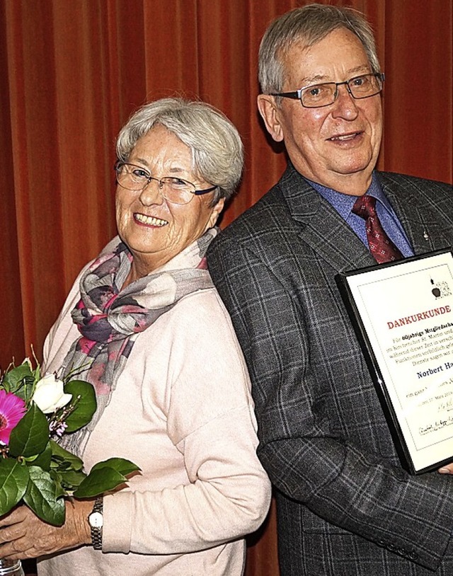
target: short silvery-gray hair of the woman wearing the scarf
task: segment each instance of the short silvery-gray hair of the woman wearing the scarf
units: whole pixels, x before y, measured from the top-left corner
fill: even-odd
[[[118,134],[118,159],[127,162],[139,138],[157,124],[190,148],[197,177],[218,186],[212,205],[234,194],[241,179],[243,145],[236,127],[222,112],[205,102],[183,98],[162,98],[144,105]]]

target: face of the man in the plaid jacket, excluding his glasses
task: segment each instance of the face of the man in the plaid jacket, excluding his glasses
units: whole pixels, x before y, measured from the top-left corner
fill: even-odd
[[[282,92],[322,82],[344,82],[372,70],[360,40],[338,28],[311,47],[292,45],[283,59]],[[382,136],[381,98],[355,100],[345,85],[336,101],[304,108],[300,100],[258,96],[258,107],[272,137],[285,141],[289,158],[302,175],[346,194],[365,193],[377,162]]]

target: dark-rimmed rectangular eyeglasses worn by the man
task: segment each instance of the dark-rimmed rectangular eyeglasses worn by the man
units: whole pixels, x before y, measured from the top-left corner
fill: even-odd
[[[345,82],[323,82],[304,86],[296,92],[271,93],[270,96],[282,96],[282,98],[294,98],[300,100],[304,108],[322,108],[335,102],[338,97],[338,86],[346,86],[346,89],[356,100],[376,96],[384,86],[384,74],[362,74]]]

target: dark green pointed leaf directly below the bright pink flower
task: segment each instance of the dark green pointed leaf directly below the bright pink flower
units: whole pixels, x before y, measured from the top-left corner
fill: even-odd
[[[35,456],[45,450],[48,441],[47,418],[33,404],[13,428],[9,437],[9,451],[12,456]]]

